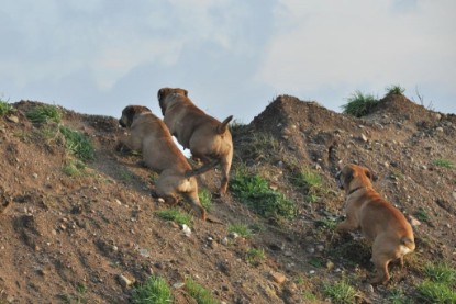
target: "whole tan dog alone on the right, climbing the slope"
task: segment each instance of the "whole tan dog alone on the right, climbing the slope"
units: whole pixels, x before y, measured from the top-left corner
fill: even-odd
[[[388,264],[415,249],[413,230],[403,214],[383,200],[371,184],[371,172],[356,165],[345,166],[336,176],[337,184],[346,193],[346,219],[336,232],[360,228],[363,235],[374,243],[372,262],[377,277],[372,284],[386,283],[389,279]]]

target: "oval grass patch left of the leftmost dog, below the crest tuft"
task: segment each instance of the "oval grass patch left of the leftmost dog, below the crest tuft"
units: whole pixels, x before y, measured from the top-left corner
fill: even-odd
[[[60,132],[65,137],[65,147],[70,154],[81,160],[93,159],[94,149],[86,135],[66,126],[60,126]]]

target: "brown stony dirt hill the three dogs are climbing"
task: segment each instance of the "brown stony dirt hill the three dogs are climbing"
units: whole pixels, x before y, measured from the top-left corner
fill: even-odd
[[[168,206],[151,196],[141,157],[116,150],[118,119],[58,108],[60,122],[32,123],[41,105],[21,101],[0,117],[0,303],[130,303],[151,275],[168,282],[175,303],[197,303],[188,278],[224,303],[325,302],[325,286],[341,281],[357,302],[413,302],[425,262],[456,263],[454,114],[389,95],[354,119],[278,97],[248,125],[232,125],[232,178],[263,177],[293,202],[293,216],[263,216],[231,189],[209,211],[223,224],[193,217],[186,235],[157,215]],[[86,135],[93,157],[68,153],[62,126]],[[374,268],[359,235],[333,233],[344,215],[334,174],[347,162],[369,167],[377,191],[413,224],[416,251],[403,271],[390,267],[385,286],[367,283]],[[321,184],[298,183],[302,171]],[[200,189],[215,192],[219,180],[205,173]],[[236,225],[252,235],[232,233]],[[253,262],[252,252],[264,257]]]

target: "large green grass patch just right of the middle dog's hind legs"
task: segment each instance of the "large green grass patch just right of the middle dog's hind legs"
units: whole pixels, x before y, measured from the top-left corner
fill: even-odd
[[[269,188],[268,182],[258,174],[237,171],[230,181],[233,195],[253,212],[273,218],[293,218],[297,205],[283,193]]]

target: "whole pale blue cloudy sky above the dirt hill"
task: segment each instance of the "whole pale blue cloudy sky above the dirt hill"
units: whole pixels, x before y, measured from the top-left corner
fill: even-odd
[[[118,117],[159,116],[181,87],[223,120],[248,123],[279,94],[327,109],[356,90],[456,113],[455,0],[7,0],[0,97]]]

